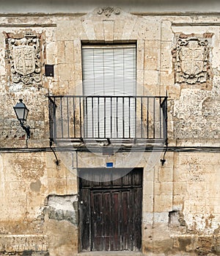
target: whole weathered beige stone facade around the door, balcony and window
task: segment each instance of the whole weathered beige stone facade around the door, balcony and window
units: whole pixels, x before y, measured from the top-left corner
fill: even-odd
[[[0,255],[77,255],[77,168],[106,162],[144,168],[143,255],[220,255],[219,15],[100,7],[0,21]],[[62,151],[56,164],[47,96],[82,95],[82,42],[136,42],[137,95],[168,95],[163,165],[157,150]],[[12,109],[19,98],[28,147]]]

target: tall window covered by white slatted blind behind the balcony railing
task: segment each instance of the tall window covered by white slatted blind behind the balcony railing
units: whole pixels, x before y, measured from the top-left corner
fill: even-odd
[[[136,45],[83,45],[87,138],[135,136]]]

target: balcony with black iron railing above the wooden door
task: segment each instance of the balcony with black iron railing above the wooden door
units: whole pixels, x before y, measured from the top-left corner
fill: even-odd
[[[49,96],[51,142],[164,143],[166,96]]]

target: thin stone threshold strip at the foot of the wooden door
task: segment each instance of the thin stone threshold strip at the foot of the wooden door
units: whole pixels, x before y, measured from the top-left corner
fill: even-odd
[[[142,252],[133,252],[133,251],[111,251],[111,252],[80,252],[76,256],[125,256],[125,255],[133,255],[133,256],[143,256]]]

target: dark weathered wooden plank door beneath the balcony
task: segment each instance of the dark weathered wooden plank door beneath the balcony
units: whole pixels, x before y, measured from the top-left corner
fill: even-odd
[[[142,247],[142,169],[81,169],[82,251],[139,251]]]

